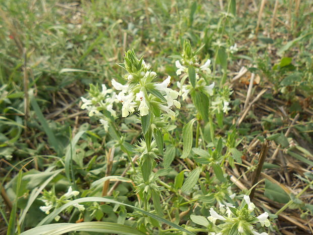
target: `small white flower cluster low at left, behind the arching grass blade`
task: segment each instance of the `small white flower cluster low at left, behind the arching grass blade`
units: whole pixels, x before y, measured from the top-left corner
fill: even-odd
[[[79,192],[73,191],[71,186],[69,187],[68,191],[60,198],[57,198],[57,196],[52,191],[48,191],[48,192],[44,191],[40,200],[44,202],[45,206],[41,206],[39,207],[39,209],[45,212],[46,214],[49,214],[51,209],[61,207],[62,205],[68,203],[70,201],[69,200],[70,198],[75,197],[78,194]],[[78,210],[80,211],[85,210],[85,207],[78,203],[74,204],[73,206],[78,208]],[[55,217],[56,221],[59,221],[59,219],[60,219],[59,215]]]

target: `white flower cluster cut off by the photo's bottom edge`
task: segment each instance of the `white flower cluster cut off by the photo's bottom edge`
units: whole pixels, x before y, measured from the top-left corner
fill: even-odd
[[[270,226],[270,221],[268,219],[269,214],[264,212],[263,214],[255,217],[253,213],[255,205],[250,202],[249,196],[245,195],[243,197],[241,206],[238,209],[231,204],[228,204],[225,207],[225,215],[220,215],[213,208],[211,208],[211,216],[207,217],[207,219],[214,225],[216,225],[217,220],[219,220],[219,225],[214,228],[217,235],[229,234],[229,231],[234,227],[236,227],[240,234],[268,235],[266,232],[258,233],[254,229],[254,224],[259,222],[261,226]]]

